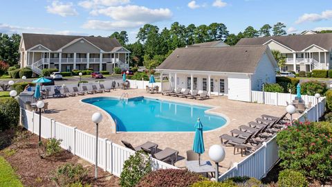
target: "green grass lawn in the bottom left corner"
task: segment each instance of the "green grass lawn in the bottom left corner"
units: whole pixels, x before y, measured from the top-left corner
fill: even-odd
[[[0,156],[0,187],[23,186],[12,166]]]

